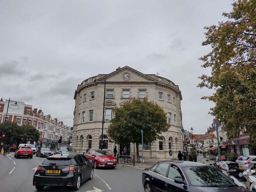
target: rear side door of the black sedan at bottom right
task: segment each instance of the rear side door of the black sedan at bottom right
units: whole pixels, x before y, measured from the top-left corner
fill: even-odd
[[[170,163],[160,163],[151,175],[151,184],[154,192],[164,192],[165,189],[165,178]]]

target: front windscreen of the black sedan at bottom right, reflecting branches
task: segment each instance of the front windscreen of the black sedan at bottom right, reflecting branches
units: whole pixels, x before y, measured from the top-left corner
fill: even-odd
[[[209,166],[184,167],[183,169],[193,186],[219,187],[235,185],[235,183],[223,175],[223,173]]]

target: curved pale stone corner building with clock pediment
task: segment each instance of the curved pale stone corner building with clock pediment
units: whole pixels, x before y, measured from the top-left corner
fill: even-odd
[[[178,150],[183,149],[182,141],[182,111],[180,101],[182,94],[178,85],[172,81],[156,76],[143,74],[131,67],[118,67],[109,74],[99,74],[84,80],[78,85],[75,93],[74,130],[72,146],[78,152],[86,149],[99,149],[102,130],[102,110],[104,97],[104,80],[106,78],[105,124],[104,124],[104,150],[110,153],[114,150],[114,143],[110,143],[106,134],[109,121],[112,119],[112,108],[122,106],[130,98],[155,101],[163,107],[168,116],[171,127],[161,134],[161,137],[152,143],[144,144],[144,158],[170,158],[177,159]],[[117,145],[121,153],[124,145]],[[136,154],[136,146],[126,145],[128,153]],[[139,146],[141,149],[142,146]],[[172,150],[172,156],[169,155]],[[141,151],[140,151],[141,154]]]

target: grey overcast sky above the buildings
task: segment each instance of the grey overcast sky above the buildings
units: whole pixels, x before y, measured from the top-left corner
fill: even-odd
[[[197,88],[204,26],[231,0],[0,0],[0,97],[24,101],[73,126],[81,81],[130,66],[160,73],[182,92],[183,127],[206,131],[212,91]],[[203,133],[203,132],[202,132]]]

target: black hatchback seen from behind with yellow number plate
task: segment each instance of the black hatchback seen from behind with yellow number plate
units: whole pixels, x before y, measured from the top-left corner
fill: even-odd
[[[40,164],[33,177],[37,190],[45,186],[71,186],[75,190],[82,182],[93,178],[93,164],[78,153],[56,154]]]

